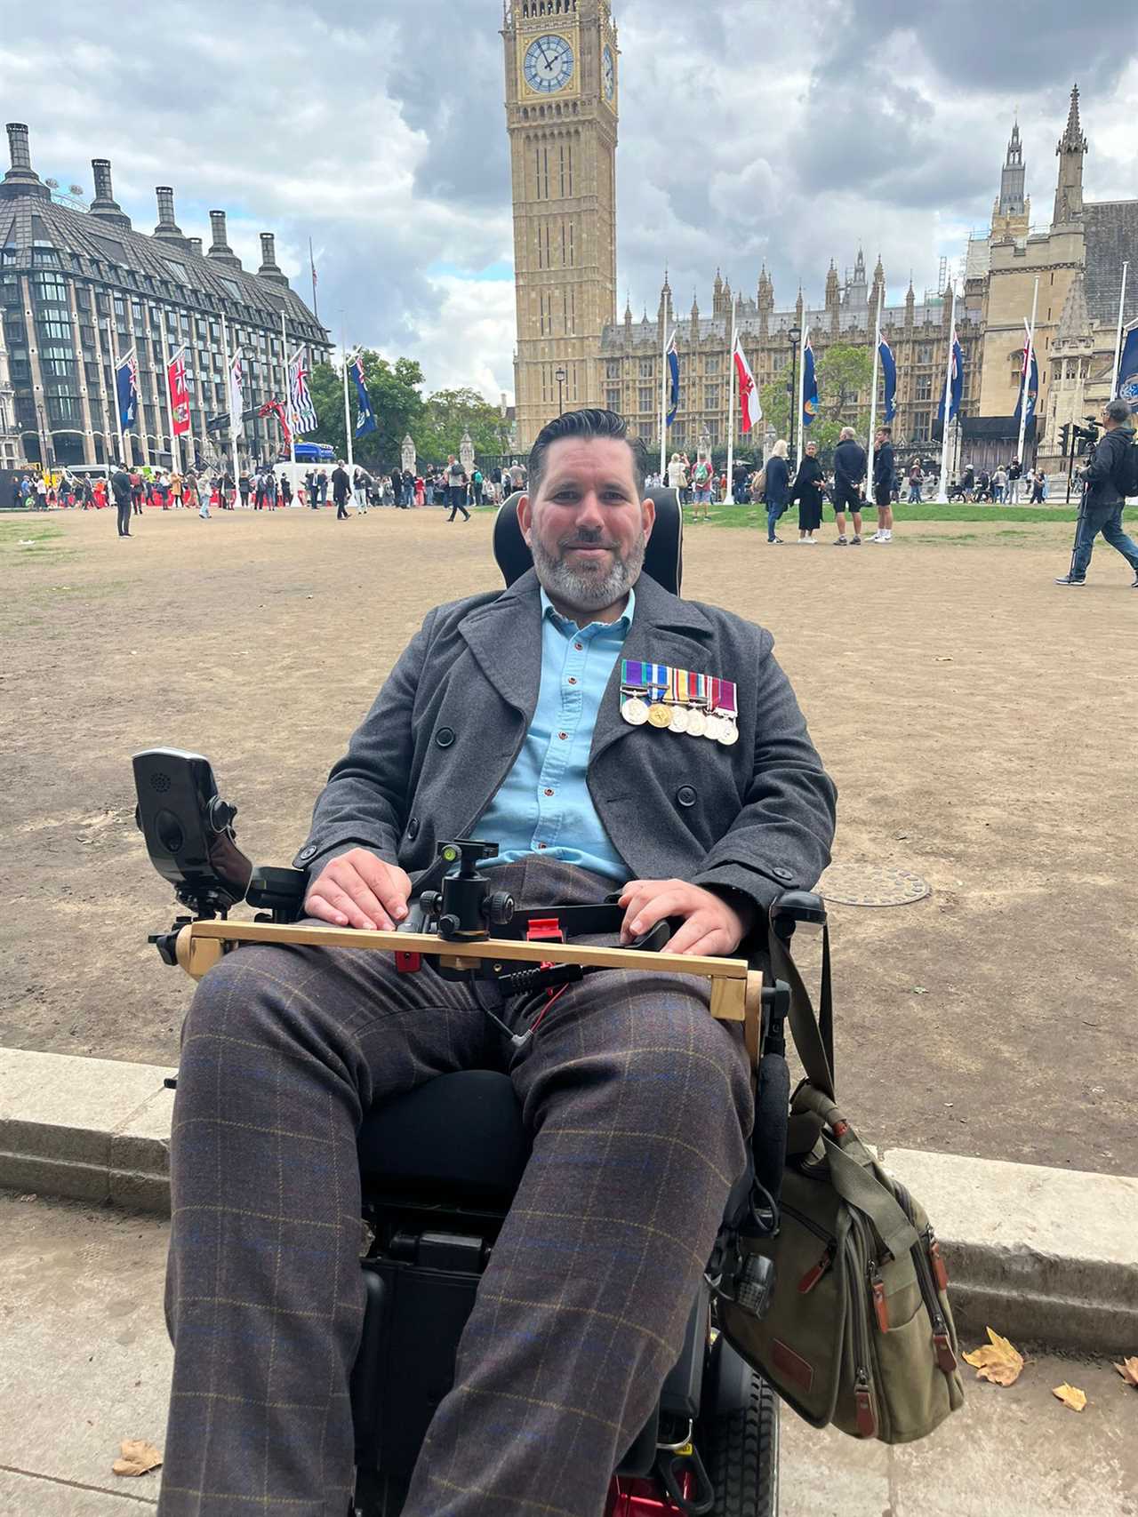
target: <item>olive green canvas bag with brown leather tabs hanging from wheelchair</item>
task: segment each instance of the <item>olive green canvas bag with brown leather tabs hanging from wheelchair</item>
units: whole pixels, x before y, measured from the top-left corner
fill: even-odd
[[[777,1211],[751,1208],[724,1250],[718,1321],[815,1427],[912,1443],[964,1405],[944,1259],[921,1204],[835,1101],[828,931],[819,1019],[774,930],[769,947],[774,977],[791,988],[791,1033],[806,1079],[791,1098]],[[756,1277],[763,1258],[774,1283],[759,1317],[737,1285]]]

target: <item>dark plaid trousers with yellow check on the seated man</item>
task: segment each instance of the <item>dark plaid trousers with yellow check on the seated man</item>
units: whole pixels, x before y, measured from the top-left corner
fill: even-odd
[[[545,859],[493,875],[531,906],[611,889]],[[426,963],[399,974],[372,951],[244,947],[202,980],[182,1027],[161,1517],[344,1517],[364,1314],[357,1132],[373,1103],[463,1068],[508,1071],[533,1157],[404,1512],[604,1511],[745,1162],[747,1056],[709,1015],[707,981],[589,975],[514,1053],[467,986]]]

